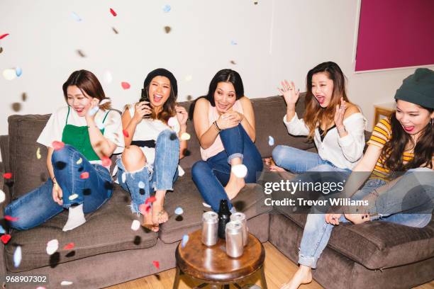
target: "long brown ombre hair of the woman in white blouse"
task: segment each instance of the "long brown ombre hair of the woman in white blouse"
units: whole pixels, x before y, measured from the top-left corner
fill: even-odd
[[[326,108],[322,108],[319,105],[312,93],[313,74],[320,72],[324,72],[327,74],[329,79],[333,80],[333,94],[330,103]],[[340,98],[343,97],[344,101],[350,101],[345,92],[345,76],[338,64],[335,64],[335,62],[323,62],[309,70],[306,77],[306,86],[306,113],[304,115],[304,122],[309,130],[308,140],[312,140],[317,125],[321,126],[321,123],[325,122],[326,126],[328,126],[330,123],[333,123],[336,105],[340,104]]]

